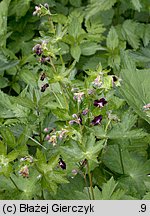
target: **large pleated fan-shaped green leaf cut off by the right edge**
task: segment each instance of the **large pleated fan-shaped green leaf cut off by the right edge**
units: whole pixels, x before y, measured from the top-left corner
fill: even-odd
[[[150,70],[122,70],[123,83],[120,88],[121,94],[127,103],[137,112],[141,118],[150,123],[150,115],[143,106],[150,102],[149,76]]]

